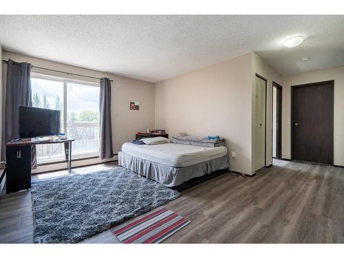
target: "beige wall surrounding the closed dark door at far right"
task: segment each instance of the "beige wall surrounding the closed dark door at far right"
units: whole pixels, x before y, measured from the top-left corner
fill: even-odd
[[[344,166],[344,66],[283,76],[282,158],[290,158],[290,86],[334,80],[334,164]]]

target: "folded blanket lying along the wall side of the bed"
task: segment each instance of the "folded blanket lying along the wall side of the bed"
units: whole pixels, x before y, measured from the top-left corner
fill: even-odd
[[[206,138],[195,136],[173,136],[171,142],[179,144],[190,144],[203,147],[220,147],[224,146],[224,139],[219,136],[208,136]]]

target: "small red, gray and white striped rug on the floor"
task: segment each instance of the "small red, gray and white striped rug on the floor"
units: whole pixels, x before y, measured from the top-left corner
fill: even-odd
[[[189,223],[189,220],[177,213],[160,208],[149,215],[136,218],[125,226],[120,226],[112,233],[123,244],[158,244]]]

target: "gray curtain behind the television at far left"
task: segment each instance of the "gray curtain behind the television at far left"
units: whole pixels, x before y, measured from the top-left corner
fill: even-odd
[[[31,64],[8,60],[5,107],[5,143],[19,138],[19,105],[32,106]],[[36,168],[36,147],[32,147],[32,168]]]

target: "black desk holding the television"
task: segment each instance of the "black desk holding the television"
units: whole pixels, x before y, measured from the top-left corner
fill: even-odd
[[[36,144],[65,145],[68,172],[72,169],[72,142],[74,139],[47,138],[44,140],[12,140],[6,144],[6,193],[31,188],[31,147]]]

